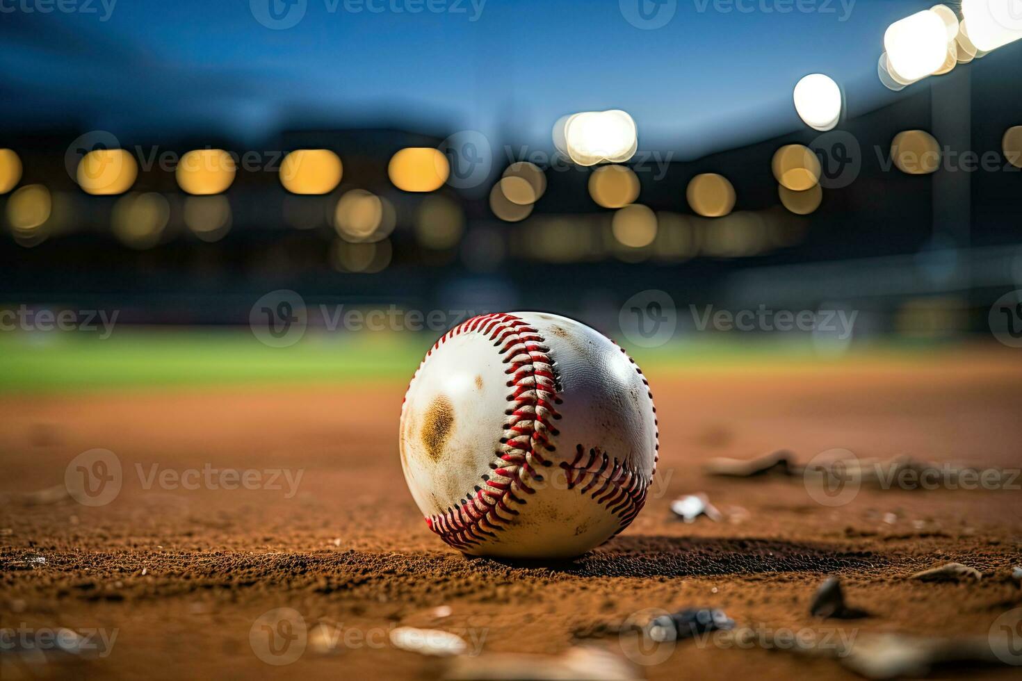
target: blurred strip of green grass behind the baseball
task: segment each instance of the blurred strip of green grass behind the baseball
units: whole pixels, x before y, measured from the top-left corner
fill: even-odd
[[[310,331],[285,348],[247,328],[119,328],[105,340],[75,332],[0,334],[0,392],[111,387],[408,381],[432,334]],[[647,371],[772,371],[821,363],[932,357],[942,346],[874,345],[836,356],[808,340],[700,337],[659,348],[628,347]],[[925,351],[923,351],[925,350]]]

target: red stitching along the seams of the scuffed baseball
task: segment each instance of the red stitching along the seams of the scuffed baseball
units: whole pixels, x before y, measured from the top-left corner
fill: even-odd
[[[551,442],[551,437],[556,436],[558,431],[551,422],[561,418],[556,408],[560,398],[557,396],[557,376],[553,369],[555,361],[550,356],[550,348],[539,331],[520,318],[507,313],[474,317],[444,334],[426,353],[426,357],[451,338],[469,332],[481,333],[494,341],[494,346],[504,355],[504,363],[509,364],[504,373],[510,377],[508,388],[513,390],[507,397],[512,406],[506,411],[508,421],[504,425],[501,448],[495,452],[498,460],[491,464],[496,478],[484,476],[485,487],[477,487],[474,496],[469,494],[460,506],[449,507],[443,514],[425,519],[430,530],[458,549],[481,543],[483,536],[496,537],[490,530],[503,531],[502,524],[512,520],[502,516],[498,509],[512,517],[517,516],[518,510],[508,506],[507,502],[525,503],[522,498],[524,495],[516,493],[536,493],[530,481],[543,481],[543,476],[536,472],[536,468],[552,465],[540,450],[555,451],[556,446]],[[621,348],[621,352],[624,352],[624,348]],[[629,357],[629,360],[635,364],[634,359]],[[638,367],[636,371],[642,375]],[[648,390],[649,383],[645,377],[643,383]],[[652,399],[653,394],[649,393],[649,397]],[[656,411],[655,407],[653,411]],[[656,447],[659,449],[658,433],[656,437]],[[649,482],[616,457],[610,458],[606,453],[599,453],[601,455],[598,456],[596,449],[590,449],[589,461],[580,466],[585,448],[578,444],[574,460],[571,464],[562,461],[560,467],[565,471],[568,489],[575,488],[587,477],[592,476],[592,480],[579,493],[590,494],[597,503],[618,517],[620,525],[614,532],[617,534],[642,510]],[[593,470],[597,463],[599,466]],[[653,473],[655,471],[656,457]],[[601,478],[603,485],[591,491]]]

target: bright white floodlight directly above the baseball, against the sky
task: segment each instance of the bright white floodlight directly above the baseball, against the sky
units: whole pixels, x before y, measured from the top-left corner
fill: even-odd
[[[555,144],[560,125],[559,120],[554,127]],[[568,156],[579,165],[622,163],[639,147],[635,120],[617,109],[575,113],[563,123],[563,140]]]

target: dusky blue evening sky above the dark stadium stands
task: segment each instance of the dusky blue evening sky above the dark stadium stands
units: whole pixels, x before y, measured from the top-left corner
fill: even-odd
[[[791,89],[808,72],[832,76],[852,114],[904,96],[877,79],[883,32],[932,4],[288,0],[305,4],[276,15],[300,18],[273,30],[257,15],[283,0],[59,0],[78,11],[40,11],[57,1],[0,0],[8,127],[258,140],[288,119],[385,119],[549,147],[560,115],[623,108],[642,148],[681,157],[797,129]],[[637,28],[636,2],[669,20]]]

